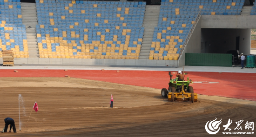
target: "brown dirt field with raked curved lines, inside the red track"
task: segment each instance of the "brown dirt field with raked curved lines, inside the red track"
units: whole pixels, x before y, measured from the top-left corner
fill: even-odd
[[[159,89],[79,78],[0,78],[0,83],[0,125],[12,117],[17,129],[0,133],[6,137],[204,137],[212,136],[205,124],[215,117],[222,118],[218,137],[229,118],[231,131],[239,120],[243,129],[246,121],[256,122],[255,101],[199,95],[197,103],[171,103]],[[19,94],[26,108],[26,116],[20,113],[21,131]],[[114,108],[109,108],[111,94]]]

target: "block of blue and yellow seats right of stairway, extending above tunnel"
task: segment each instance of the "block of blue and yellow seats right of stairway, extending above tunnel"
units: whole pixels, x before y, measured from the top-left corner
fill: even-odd
[[[162,0],[149,59],[178,60],[199,15],[240,15],[244,0]]]

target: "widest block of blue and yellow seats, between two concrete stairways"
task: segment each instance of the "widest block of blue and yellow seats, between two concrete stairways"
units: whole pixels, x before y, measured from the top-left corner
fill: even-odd
[[[36,0],[40,58],[138,59],[145,5]]]

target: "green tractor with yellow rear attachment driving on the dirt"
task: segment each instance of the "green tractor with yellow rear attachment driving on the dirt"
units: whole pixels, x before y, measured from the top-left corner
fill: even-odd
[[[175,74],[173,72],[172,74]],[[183,80],[179,81],[178,77],[172,79],[171,72],[169,72],[170,81],[168,83],[168,90],[163,88],[161,91],[163,98],[168,98],[168,101],[187,101],[187,102],[197,102],[197,94],[194,93],[193,87],[189,84],[193,84],[193,81],[187,77],[187,81],[184,80],[185,75],[188,73],[183,73]]]

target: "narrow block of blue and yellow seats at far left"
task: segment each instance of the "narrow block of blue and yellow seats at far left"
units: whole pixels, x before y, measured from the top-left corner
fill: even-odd
[[[20,0],[0,0],[0,17],[0,51],[13,50],[14,58],[28,58],[26,26],[22,24]]]

